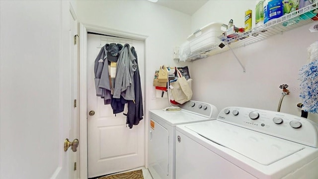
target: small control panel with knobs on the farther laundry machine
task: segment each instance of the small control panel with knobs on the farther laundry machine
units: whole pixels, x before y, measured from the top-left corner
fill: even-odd
[[[189,100],[180,105],[183,110],[206,116],[208,118],[216,118],[219,111],[216,106],[201,101]]]

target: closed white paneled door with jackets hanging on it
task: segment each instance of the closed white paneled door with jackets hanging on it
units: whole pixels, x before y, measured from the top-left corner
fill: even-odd
[[[124,38],[87,35],[87,142],[88,178],[121,172],[144,166],[144,119],[132,129],[126,126],[123,113],[113,114],[111,105],[104,105],[96,96],[94,61],[106,43],[128,43],[138,55],[141,79],[144,79],[144,42]],[[142,91],[144,92],[143,81]],[[127,113],[127,106],[125,106]]]

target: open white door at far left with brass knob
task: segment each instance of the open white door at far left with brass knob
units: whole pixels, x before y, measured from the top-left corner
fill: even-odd
[[[1,179],[70,177],[69,5],[0,1]]]

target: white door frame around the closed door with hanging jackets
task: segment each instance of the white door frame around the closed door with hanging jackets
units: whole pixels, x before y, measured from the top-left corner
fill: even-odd
[[[134,40],[145,41],[145,54],[147,37],[146,35],[126,32],[117,29],[111,29],[91,24],[80,23],[79,25],[79,44],[80,44],[80,55],[79,55],[79,160],[80,160],[80,178],[87,179],[87,32],[95,32],[100,34],[113,35],[117,37],[130,38]],[[145,57],[146,59],[146,57]],[[145,60],[146,68],[146,60]],[[144,73],[146,69],[144,69]],[[146,76],[145,76],[146,77]],[[145,79],[144,79],[145,82]],[[145,86],[145,83],[144,83]],[[146,90],[146,88],[144,88]],[[146,93],[146,91],[145,91]],[[144,101],[145,98],[143,98]],[[143,101],[143,102],[144,102]],[[144,106],[146,106],[144,104]],[[145,131],[147,125],[145,124]],[[146,138],[144,139],[146,144]]]

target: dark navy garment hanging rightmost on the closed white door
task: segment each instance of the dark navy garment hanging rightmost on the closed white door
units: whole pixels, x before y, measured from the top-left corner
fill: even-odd
[[[133,128],[133,125],[139,124],[139,121],[143,119],[143,95],[141,90],[140,74],[138,67],[137,53],[134,47],[131,47],[131,52],[136,58],[137,69],[134,73],[134,90],[135,90],[135,101],[128,101],[128,112],[127,112],[127,124],[129,128]]]

